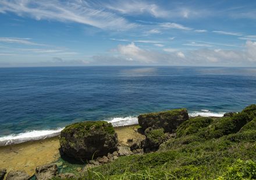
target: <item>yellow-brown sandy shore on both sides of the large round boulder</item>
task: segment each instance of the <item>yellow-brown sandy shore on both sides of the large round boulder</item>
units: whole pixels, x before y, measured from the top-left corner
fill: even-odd
[[[144,135],[137,132],[138,124],[115,127],[119,144],[129,146],[131,143],[140,142]],[[133,142],[127,142],[133,139]],[[33,175],[38,165],[57,161],[59,155],[58,135],[34,141],[27,141],[12,145],[0,146],[0,168],[10,170],[24,170]]]

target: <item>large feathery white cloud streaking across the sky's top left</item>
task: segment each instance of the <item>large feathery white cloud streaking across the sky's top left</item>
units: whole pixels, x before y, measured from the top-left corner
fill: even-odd
[[[0,1],[0,12],[13,12],[19,16],[33,17],[36,20],[70,21],[109,30],[126,30],[137,26],[115,13],[93,8],[90,3],[79,0],[2,0]]]

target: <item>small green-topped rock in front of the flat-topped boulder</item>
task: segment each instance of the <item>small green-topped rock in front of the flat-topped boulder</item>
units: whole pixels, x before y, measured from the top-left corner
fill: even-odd
[[[146,139],[143,141],[143,150],[145,153],[157,151],[161,143],[168,139],[168,133],[164,133],[163,128],[145,130]]]

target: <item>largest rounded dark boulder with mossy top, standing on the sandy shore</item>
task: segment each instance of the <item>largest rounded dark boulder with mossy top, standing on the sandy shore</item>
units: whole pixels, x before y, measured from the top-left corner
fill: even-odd
[[[118,136],[111,123],[85,121],[68,125],[59,136],[61,151],[77,160],[91,160],[116,150]]]

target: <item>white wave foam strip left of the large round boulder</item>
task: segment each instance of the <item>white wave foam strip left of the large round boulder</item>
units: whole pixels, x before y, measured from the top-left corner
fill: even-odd
[[[0,146],[6,146],[13,143],[22,143],[27,141],[40,140],[45,138],[51,138],[61,133],[63,128],[52,130],[33,130],[20,134],[12,134],[8,136],[0,137]]]

